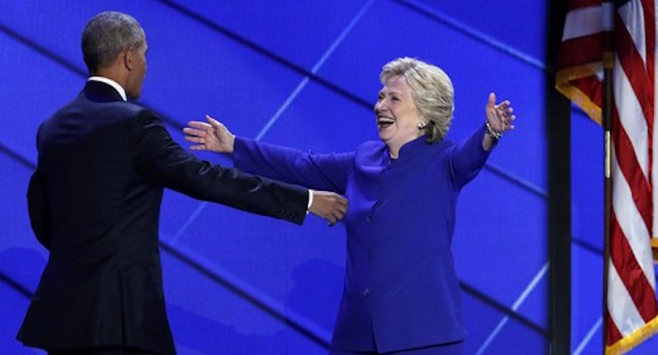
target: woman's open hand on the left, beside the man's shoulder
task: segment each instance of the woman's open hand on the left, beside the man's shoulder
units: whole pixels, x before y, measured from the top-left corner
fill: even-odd
[[[185,140],[195,143],[189,149],[233,154],[236,136],[210,115],[206,114],[205,119],[208,122],[190,121],[183,129]]]

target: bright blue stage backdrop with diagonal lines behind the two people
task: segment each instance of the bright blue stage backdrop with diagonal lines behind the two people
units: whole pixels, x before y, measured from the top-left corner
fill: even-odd
[[[140,103],[162,114],[183,146],[181,128],[212,114],[238,135],[315,152],[352,150],[377,138],[378,75],[400,56],[437,64],[452,77],[449,138],[463,138],[485,120],[490,91],[511,99],[518,128],[459,203],[453,254],[466,353],[548,354],[547,6],[0,0],[0,353],[41,353],[14,339],[48,257],[30,231],[25,197],[36,128],[84,85],[84,22],[117,10],[147,32]],[[598,354],[600,128],[575,109],[572,125],[572,346]],[[309,217],[300,227],[167,192],[160,227],[167,311],[181,354],[325,353],[345,271],[342,225]],[[644,346],[634,353],[654,352]]]

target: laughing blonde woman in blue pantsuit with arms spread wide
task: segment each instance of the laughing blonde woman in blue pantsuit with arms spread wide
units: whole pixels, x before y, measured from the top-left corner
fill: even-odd
[[[231,154],[240,170],[347,197],[333,354],[461,354],[466,331],[450,249],[457,197],[515,116],[491,93],[485,122],[450,142],[453,84],[443,70],[395,59],[381,83],[374,105],[381,141],[354,152],[312,154],[239,138],[211,117],[190,122],[186,139],[192,149]]]

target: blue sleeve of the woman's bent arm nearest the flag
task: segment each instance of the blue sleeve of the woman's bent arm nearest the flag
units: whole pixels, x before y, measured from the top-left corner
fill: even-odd
[[[461,189],[468,184],[485,166],[486,159],[493,150],[485,151],[482,147],[485,131],[486,126],[483,124],[469,138],[447,149],[446,162],[455,188]]]

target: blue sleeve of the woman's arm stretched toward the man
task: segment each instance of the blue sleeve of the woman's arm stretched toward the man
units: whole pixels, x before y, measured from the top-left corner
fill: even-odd
[[[254,174],[344,194],[354,153],[313,154],[237,137],[233,162],[238,169]]]

